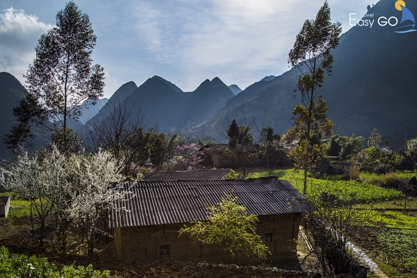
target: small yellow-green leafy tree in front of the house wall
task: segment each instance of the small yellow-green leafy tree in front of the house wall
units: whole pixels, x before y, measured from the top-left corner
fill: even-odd
[[[240,251],[250,256],[256,254],[265,258],[268,247],[263,245],[256,234],[256,215],[249,215],[245,206],[237,203],[238,197],[225,195],[218,206],[207,208],[207,221],[193,221],[192,226],[184,226],[180,234],[190,233],[203,243],[224,246],[224,250],[234,257]]]

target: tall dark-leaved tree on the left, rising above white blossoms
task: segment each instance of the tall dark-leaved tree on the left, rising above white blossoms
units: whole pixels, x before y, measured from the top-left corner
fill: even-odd
[[[36,58],[24,76],[31,97],[26,97],[14,112],[18,120],[24,114],[30,115],[30,120],[20,122],[6,141],[19,144],[19,139],[33,136],[28,133],[31,123],[45,124],[48,120],[52,122],[52,126],[48,125],[51,130],[72,136],[67,120],[79,119],[85,99],[95,104],[103,96],[104,69],[92,65],[91,58],[96,40],[88,15],[74,2],[67,3],[56,15],[56,27],[41,35],[35,47]],[[28,107],[28,99],[38,108]],[[19,136],[19,132],[23,135]]]

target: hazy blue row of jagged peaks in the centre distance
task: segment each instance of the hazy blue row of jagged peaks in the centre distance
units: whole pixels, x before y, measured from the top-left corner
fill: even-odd
[[[234,93],[218,77],[211,81],[206,79],[193,92],[183,92],[160,76],[147,79],[138,88],[133,84],[122,85],[87,124],[92,125],[104,119],[111,112],[106,110],[107,107],[111,108],[119,103],[135,104],[136,113],[144,113],[149,124],[157,125],[160,131],[178,132],[185,126],[204,122],[224,106],[227,99],[234,97]],[[129,99],[127,103],[125,98]]]

